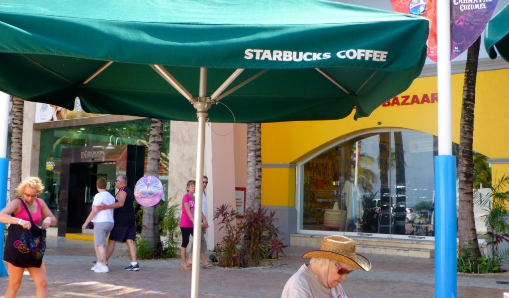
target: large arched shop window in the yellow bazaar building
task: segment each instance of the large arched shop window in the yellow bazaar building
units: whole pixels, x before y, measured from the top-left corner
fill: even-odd
[[[434,236],[437,138],[365,134],[303,165],[302,229]]]

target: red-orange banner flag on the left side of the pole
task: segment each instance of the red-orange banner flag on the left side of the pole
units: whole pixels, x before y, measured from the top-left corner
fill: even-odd
[[[427,18],[430,21],[428,57],[437,62],[437,0],[390,0],[392,10]]]

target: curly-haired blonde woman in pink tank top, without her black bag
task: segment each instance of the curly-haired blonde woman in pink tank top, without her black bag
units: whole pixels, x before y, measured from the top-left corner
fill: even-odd
[[[42,228],[46,229],[49,226],[56,224],[56,218],[53,216],[48,206],[43,199],[37,196],[44,190],[44,185],[38,177],[30,176],[24,178],[16,189],[16,194],[19,196],[11,200],[7,206],[0,211],[0,222],[5,224],[18,224],[25,229],[30,229],[30,217],[27,212],[30,212],[34,224],[38,225],[42,221]],[[25,209],[25,206],[28,210]],[[14,216],[11,216],[14,214]],[[26,268],[32,276],[35,284],[35,296],[37,298],[45,298],[48,296],[48,285],[46,279],[46,265],[44,260],[41,267]],[[7,262],[7,270],[9,272],[9,285],[5,292],[5,298],[15,298],[21,286],[21,279],[25,268],[16,267]]]

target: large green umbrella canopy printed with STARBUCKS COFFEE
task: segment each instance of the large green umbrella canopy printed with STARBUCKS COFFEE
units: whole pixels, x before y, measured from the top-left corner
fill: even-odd
[[[211,122],[369,115],[423,67],[424,18],[331,1],[3,0],[0,91],[93,113]],[[187,100],[185,100],[186,98]]]

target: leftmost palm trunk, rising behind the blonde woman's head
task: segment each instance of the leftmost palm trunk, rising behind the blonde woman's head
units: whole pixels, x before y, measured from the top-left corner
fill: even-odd
[[[24,100],[12,97],[12,143],[10,198],[16,198],[16,187],[21,182],[21,157],[23,147]]]

